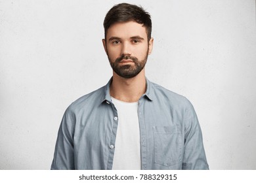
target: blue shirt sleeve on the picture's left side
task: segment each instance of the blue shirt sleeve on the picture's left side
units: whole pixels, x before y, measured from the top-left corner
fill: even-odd
[[[58,129],[58,137],[55,145],[52,170],[75,169],[74,165],[74,123],[75,116],[70,107],[67,108],[60,128]]]

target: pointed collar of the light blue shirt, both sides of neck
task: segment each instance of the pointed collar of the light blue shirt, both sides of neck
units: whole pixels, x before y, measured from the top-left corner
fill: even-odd
[[[111,103],[111,96],[110,96],[110,84],[112,83],[113,77],[110,78],[108,83],[104,86],[104,95],[102,95],[101,102],[108,102]],[[150,101],[154,100],[154,84],[146,78],[146,92],[140,97],[146,97]]]

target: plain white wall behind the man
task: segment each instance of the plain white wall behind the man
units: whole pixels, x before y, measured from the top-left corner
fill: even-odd
[[[64,110],[112,75],[123,1],[0,1],[0,169],[49,169]],[[147,77],[196,108],[211,169],[256,169],[255,1],[126,1],[152,15]]]

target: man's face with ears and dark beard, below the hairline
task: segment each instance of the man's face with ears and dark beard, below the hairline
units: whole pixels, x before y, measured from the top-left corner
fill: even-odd
[[[121,22],[110,26],[102,40],[114,74],[133,78],[141,71],[152,52],[153,39],[148,41],[146,27],[137,22]]]

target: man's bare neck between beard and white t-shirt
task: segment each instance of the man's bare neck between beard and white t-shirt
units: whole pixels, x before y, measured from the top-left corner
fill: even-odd
[[[146,77],[144,69],[133,78],[122,78],[113,73],[110,86],[110,95],[119,101],[127,103],[139,101],[141,95],[146,92]]]

